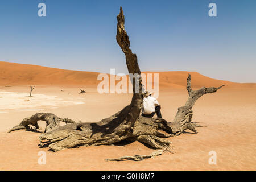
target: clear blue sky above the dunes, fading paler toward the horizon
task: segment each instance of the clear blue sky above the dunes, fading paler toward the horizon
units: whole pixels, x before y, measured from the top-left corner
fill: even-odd
[[[255,0],[1,0],[0,61],[127,73],[115,40],[119,6],[141,71],[256,82]]]

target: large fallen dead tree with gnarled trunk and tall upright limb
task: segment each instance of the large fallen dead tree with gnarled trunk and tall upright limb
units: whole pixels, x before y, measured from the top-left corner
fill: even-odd
[[[185,130],[197,133],[195,127],[199,124],[192,122],[192,107],[196,100],[207,93],[217,92],[218,88],[201,88],[192,90],[191,76],[187,78],[188,100],[185,105],[179,107],[174,121],[168,122],[162,118],[145,118],[140,115],[144,94],[142,92],[141,71],[139,69],[137,56],[131,52],[129,36],[125,31],[125,18],[122,7],[117,16],[117,43],[121,47],[126,57],[126,65],[129,73],[138,73],[137,76],[130,77],[133,82],[133,97],[129,105],[109,118],[99,122],[74,122],[72,120],[61,119],[54,114],[38,113],[30,118],[25,118],[13,130],[26,129],[28,125],[37,125],[37,121],[46,121],[46,133],[40,135],[41,147],[49,147],[51,151],[60,151],[65,148],[76,146],[98,146],[109,145],[123,140],[135,141],[147,144],[152,148],[166,148],[170,145],[170,140],[163,139],[174,135],[179,135]],[[135,92],[135,86],[139,84],[139,93]],[[138,85],[137,85],[138,86]],[[67,125],[60,126],[60,121],[68,121]],[[156,154],[157,153],[157,154]],[[156,152],[151,156],[160,154]],[[161,153],[162,154],[162,153]],[[135,156],[138,157],[138,156]],[[150,156],[146,155],[145,158]],[[141,160],[143,156],[139,156]],[[114,159],[111,159],[114,160]],[[121,159],[120,159],[121,160]],[[137,159],[136,159],[137,160]]]

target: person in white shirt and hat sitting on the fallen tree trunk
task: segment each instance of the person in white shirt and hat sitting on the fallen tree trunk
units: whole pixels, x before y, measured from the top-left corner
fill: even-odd
[[[151,93],[147,92],[145,93],[145,97],[143,100],[143,107],[142,107],[142,116],[147,118],[152,118],[155,113],[158,116],[158,118],[162,118],[161,115],[161,106],[159,105],[156,98],[151,96]]]

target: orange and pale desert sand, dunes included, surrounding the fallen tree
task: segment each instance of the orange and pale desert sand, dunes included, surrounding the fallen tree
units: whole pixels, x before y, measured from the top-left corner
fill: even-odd
[[[154,72],[153,72],[154,73]],[[162,115],[174,119],[188,94],[188,72],[159,72]],[[131,94],[100,94],[94,72],[67,71],[0,62],[0,169],[1,170],[255,170],[256,84],[214,80],[191,72],[192,88],[226,86],[201,97],[193,107],[193,121],[205,127],[199,133],[170,137],[175,154],[165,152],[140,162],[106,162],[123,155],[150,154],[142,143],[126,146],[90,146],[50,152],[39,148],[40,133],[14,131],[25,117],[38,112],[54,113],[75,121],[97,122],[130,104]],[[10,87],[6,87],[10,85]],[[32,96],[29,85],[36,85]],[[79,94],[79,88],[86,89]],[[63,91],[61,91],[63,90]],[[30,101],[27,101],[27,100]],[[44,127],[44,122],[39,122]],[[38,152],[46,152],[46,164],[38,164]],[[210,165],[209,152],[217,164]]]

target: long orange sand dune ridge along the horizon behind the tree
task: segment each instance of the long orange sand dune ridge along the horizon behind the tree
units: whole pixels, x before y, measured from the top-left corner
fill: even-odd
[[[160,88],[183,88],[189,72],[144,72],[159,73]],[[230,81],[215,80],[190,72],[192,86],[220,86],[226,84],[228,87],[256,87],[256,84],[238,84]],[[0,86],[6,85],[85,85],[96,86],[98,82],[97,72],[71,71],[65,69],[48,68],[38,65],[8,63],[0,61]],[[154,76],[153,76],[154,78]],[[154,79],[153,79],[154,81]],[[118,81],[116,81],[118,82]]]

